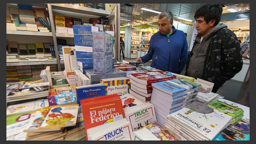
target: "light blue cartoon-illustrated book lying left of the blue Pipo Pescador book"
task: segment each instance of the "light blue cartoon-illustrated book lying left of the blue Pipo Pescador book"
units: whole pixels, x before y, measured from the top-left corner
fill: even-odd
[[[54,96],[47,97],[49,106],[64,105],[70,103],[77,103],[76,92],[63,92]]]

